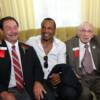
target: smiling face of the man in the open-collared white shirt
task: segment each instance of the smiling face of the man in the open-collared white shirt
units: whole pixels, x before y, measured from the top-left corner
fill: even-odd
[[[52,40],[55,34],[54,22],[45,20],[41,27],[41,35],[43,40]]]

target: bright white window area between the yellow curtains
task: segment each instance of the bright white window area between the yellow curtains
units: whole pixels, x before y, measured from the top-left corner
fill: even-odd
[[[77,26],[80,23],[80,0],[33,0],[35,27],[45,17],[53,18],[57,27]]]

